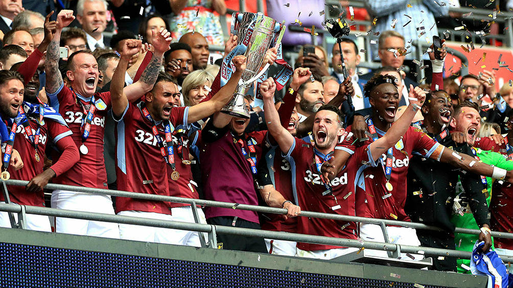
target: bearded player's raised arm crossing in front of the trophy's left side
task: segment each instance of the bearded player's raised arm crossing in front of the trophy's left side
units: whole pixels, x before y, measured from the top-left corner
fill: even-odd
[[[237,87],[237,83],[239,83],[242,73],[246,69],[246,60],[246,57],[243,55],[233,57],[232,62],[235,65],[235,71],[231,75],[230,79],[226,85],[221,87],[218,93],[215,93],[214,96],[212,96],[210,100],[201,102],[189,108],[189,115],[187,116],[189,123],[196,122],[219,112],[221,108],[230,101],[233,96],[233,92]]]

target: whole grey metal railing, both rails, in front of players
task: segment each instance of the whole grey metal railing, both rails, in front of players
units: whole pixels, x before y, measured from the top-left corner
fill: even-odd
[[[16,185],[16,186],[25,186],[25,185],[27,185],[27,183],[28,183],[28,181],[22,181],[22,180],[7,180],[7,181],[5,181],[5,184],[7,184],[7,185]],[[196,215],[196,213],[195,213],[196,205],[230,208],[230,209],[242,209],[242,210],[249,210],[249,211],[263,212],[263,213],[274,213],[274,214],[286,214],[287,213],[286,209],[281,209],[281,208],[272,208],[272,207],[263,207],[263,206],[254,206],[254,205],[227,203],[227,202],[217,202],[217,201],[199,200],[199,199],[192,199],[192,198],[163,196],[163,195],[154,195],[154,194],[135,193],[135,192],[120,191],[120,190],[107,190],[107,189],[87,188],[87,187],[60,185],[60,184],[48,184],[45,188],[55,189],[55,190],[83,192],[83,193],[92,193],[92,194],[120,196],[120,197],[132,197],[132,198],[138,198],[138,199],[142,199],[142,200],[153,200],[153,201],[165,201],[165,202],[173,202],[173,203],[191,204],[193,207],[193,213],[195,215]],[[19,228],[24,227],[24,221],[26,219],[26,216],[25,216],[26,214],[38,214],[38,215],[47,215],[47,216],[56,216],[56,217],[68,217],[68,218],[76,218],[76,219],[105,221],[105,222],[120,223],[120,224],[144,225],[144,226],[150,226],[150,227],[161,227],[161,228],[171,228],[171,229],[204,232],[204,233],[208,233],[208,241],[205,242],[203,237],[200,237],[200,239],[202,240],[202,246],[210,247],[210,248],[216,247],[216,233],[221,233],[221,234],[264,237],[264,238],[298,241],[298,242],[306,242],[306,243],[318,243],[318,244],[342,246],[342,247],[354,247],[354,248],[382,250],[382,251],[387,251],[387,252],[391,253],[394,257],[397,257],[400,253],[413,253],[413,254],[424,254],[427,256],[431,256],[431,255],[432,256],[450,256],[450,257],[458,257],[458,258],[467,258],[468,259],[471,255],[470,252],[466,252],[466,251],[456,251],[456,250],[430,248],[430,247],[407,246],[407,245],[399,245],[399,244],[388,243],[388,242],[373,242],[373,241],[353,240],[353,239],[345,239],[345,238],[333,238],[333,237],[325,237],[325,236],[305,235],[305,234],[298,234],[298,233],[283,233],[283,232],[275,232],[275,231],[265,231],[265,230],[256,230],[256,229],[247,229],[247,228],[235,228],[235,227],[226,227],[226,226],[218,226],[218,225],[200,224],[200,223],[198,223],[199,221],[197,220],[198,219],[197,217],[195,217],[196,223],[184,223],[184,222],[179,222],[179,221],[147,219],[147,218],[138,218],[138,217],[130,217],[130,216],[92,213],[92,212],[83,212],[83,211],[72,211],[72,210],[26,206],[26,205],[18,205],[18,204],[3,204],[3,203],[0,203],[0,211],[5,211],[5,212],[9,212],[9,213],[17,213],[18,219],[19,219],[19,226],[20,226]],[[302,211],[301,215],[299,215],[299,216],[300,217],[326,218],[326,219],[343,220],[343,221],[354,221],[354,222],[360,222],[360,223],[370,223],[370,224],[381,225],[382,227],[384,227],[384,225],[393,225],[393,226],[410,227],[410,228],[425,229],[425,230],[432,230],[432,231],[443,231],[442,229],[440,229],[438,227],[428,226],[428,225],[424,225],[424,224],[420,224],[420,223],[412,223],[412,222],[397,221],[397,220],[387,220],[387,219],[365,218],[365,217],[338,215],[338,214],[329,214],[329,213],[320,213],[320,212],[311,212],[311,211]],[[456,228],[455,232],[478,235],[481,231],[477,230],[477,229]],[[513,239],[513,233],[502,233],[502,232],[493,231],[493,232],[491,232],[491,234],[492,234],[492,236],[495,236],[495,237]],[[501,258],[505,262],[513,262],[513,257],[511,257],[511,256],[501,256]]]

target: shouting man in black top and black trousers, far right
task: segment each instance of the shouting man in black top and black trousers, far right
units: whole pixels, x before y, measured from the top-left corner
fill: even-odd
[[[466,154],[469,158],[475,155],[471,145],[467,143],[456,144],[449,135],[449,123],[454,109],[449,95],[445,91],[429,93],[426,102],[422,106],[424,122],[421,128],[426,134],[438,143],[451,149]],[[476,112],[479,117],[479,113]],[[476,121],[477,122],[477,121]],[[479,122],[477,122],[479,123]],[[478,127],[471,126],[469,134],[476,134]],[[472,130],[473,129],[473,130]],[[463,157],[466,157],[462,154]],[[486,178],[473,173],[465,173],[461,169],[455,170],[452,166],[442,164],[433,159],[424,159],[413,155],[410,159],[408,170],[408,194],[406,200],[406,213],[412,221],[434,225],[444,229],[444,232],[417,230],[417,236],[422,246],[443,249],[456,249],[454,241],[455,226],[450,222],[452,214],[452,199],[456,196],[458,180],[465,190],[465,196],[470,201],[469,205],[479,227],[489,230],[488,206],[486,197],[482,193],[483,181]],[[483,232],[480,240],[486,242],[486,251],[491,246],[490,234]],[[456,258],[444,257],[433,260],[433,268],[440,271],[456,272]]]

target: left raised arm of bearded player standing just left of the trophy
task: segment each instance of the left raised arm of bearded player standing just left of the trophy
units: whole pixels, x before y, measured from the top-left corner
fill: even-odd
[[[125,95],[123,86],[125,85],[125,73],[127,71],[130,58],[141,50],[141,40],[126,40],[117,63],[116,70],[110,81],[110,100],[112,101],[112,114],[116,119],[120,119],[128,106],[128,98]],[[142,95],[141,95],[142,96]]]

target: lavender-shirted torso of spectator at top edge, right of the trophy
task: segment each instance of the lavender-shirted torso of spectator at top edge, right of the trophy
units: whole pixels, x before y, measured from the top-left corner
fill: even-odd
[[[278,23],[285,20],[285,25],[295,23],[295,19],[301,21],[303,27],[311,28],[322,27],[324,15],[320,15],[319,11],[324,11],[324,1],[321,0],[267,0],[267,15],[275,19]],[[306,9],[307,8],[307,9]],[[306,9],[306,11],[305,11]],[[313,13],[309,15],[310,11]],[[302,14],[300,14],[302,13]],[[298,16],[299,15],[299,16]],[[299,24],[295,24],[299,26]],[[301,28],[302,29],[302,28]],[[322,37],[317,37],[317,42],[322,42]],[[291,48],[296,45],[305,45],[312,43],[312,35],[301,32],[293,32],[288,30],[282,39],[282,45]],[[296,50],[297,51],[297,50]],[[323,75],[321,75],[323,76]],[[325,75],[327,76],[327,75]]]

